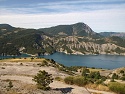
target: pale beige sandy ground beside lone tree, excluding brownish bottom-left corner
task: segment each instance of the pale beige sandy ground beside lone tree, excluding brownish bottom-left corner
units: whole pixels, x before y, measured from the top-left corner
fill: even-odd
[[[19,63],[11,63],[11,62],[1,62],[0,63],[0,80],[16,80],[20,81],[21,83],[35,85],[36,83],[32,81],[33,76],[37,74],[39,70],[45,70],[48,73],[52,74],[53,77],[61,77],[65,78],[68,76],[65,73],[59,72],[57,69],[53,67],[39,67],[37,66],[37,63],[28,62],[24,63],[23,65],[20,65]],[[78,87],[75,85],[67,85],[63,82],[54,81],[50,84],[50,87],[53,90],[61,91],[64,94],[90,94],[90,92],[98,92],[102,94],[114,94],[110,92],[104,92],[104,91],[97,91],[92,89],[86,89],[84,87]],[[54,94],[54,93],[49,93]]]

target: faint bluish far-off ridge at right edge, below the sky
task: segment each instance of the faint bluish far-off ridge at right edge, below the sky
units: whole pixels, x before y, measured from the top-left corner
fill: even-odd
[[[105,37],[110,37],[110,36],[125,37],[125,32],[101,32],[99,34]]]

